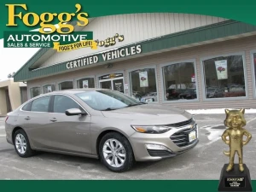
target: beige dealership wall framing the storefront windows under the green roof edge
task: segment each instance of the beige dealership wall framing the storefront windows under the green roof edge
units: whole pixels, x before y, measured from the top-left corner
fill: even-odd
[[[96,67],[84,67],[79,68],[76,71],[56,74],[42,79],[35,79],[28,82],[28,88],[37,85],[61,82],[65,79],[79,79],[87,76],[97,76],[98,74],[108,74],[115,72],[125,73],[125,83],[128,83],[128,72],[132,68],[156,66],[157,80],[158,80],[158,92],[160,96],[160,103],[163,102],[162,98],[162,80],[160,76],[160,65],[168,62],[177,62],[185,60],[195,60],[197,85],[199,93],[198,102],[168,102],[166,105],[172,105],[178,108],[256,108],[256,99],[253,97],[253,84],[252,81],[252,57],[250,51],[256,49],[256,36],[249,38],[240,38],[236,40],[228,40],[221,43],[206,44],[201,46],[195,46],[187,49],[173,50],[165,53],[147,55],[140,58],[134,58],[126,61],[119,61],[113,63],[112,68],[106,68],[99,65]],[[204,101],[203,98],[203,82],[201,79],[201,59],[204,57],[218,56],[218,55],[232,55],[236,53],[242,53],[245,55],[245,67],[247,77],[247,98],[235,98],[235,99],[222,99],[218,101]],[[96,87],[98,87],[98,80],[96,79]],[[76,83],[74,84],[76,85]],[[29,89],[28,89],[29,91]],[[126,91],[127,93],[127,91]],[[30,96],[30,94],[29,94]]]

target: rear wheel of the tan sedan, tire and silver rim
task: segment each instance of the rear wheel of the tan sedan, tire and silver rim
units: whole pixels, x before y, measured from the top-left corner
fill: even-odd
[[[21,146],[23,146],[22,151],[20,151],[20,148],[18,148],[20,142],[16,137],[19,137],[23,141],[23,143],[21,143]],[[24,144],[26,144],[26,147],[24,146]],[[19,154],[20,157],[26,158],[31,157],[32,155],[35,154],[35,151],[33,151],[30,147],[30,143],[28,137],[26,136],[26,132],[21,129],[15,131],[14,145],[15,151],[17,154]]]

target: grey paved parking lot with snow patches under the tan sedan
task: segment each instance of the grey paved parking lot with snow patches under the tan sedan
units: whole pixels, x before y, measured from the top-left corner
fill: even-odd
[[[137,163],[124,173],[109,172],[99,160],[62,154],[22,159],[6,142],[4,119],[0,118],[0,179],[219,179],[222,166],[229,162],[223,154],[228,146],[220,139],[224,118],[224,114],[196,115],[200,143],[195,148],[172,159]],[[256,179],[256,114],[246,114],[246,119],[253,138],[244,147],[244,163]]]

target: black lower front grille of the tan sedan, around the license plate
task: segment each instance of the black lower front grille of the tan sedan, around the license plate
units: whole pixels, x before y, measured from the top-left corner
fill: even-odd
[[[177,131],[174,133],[170,138],[173,143],[177,145],[177,147],[186,147],[189,144],[195,143],[196,139],[189,143],[189,132],[195,131],[196,137],[197,137],[197,131],[196,126],[194,126],[193,129],[184,129],[182,131]]]

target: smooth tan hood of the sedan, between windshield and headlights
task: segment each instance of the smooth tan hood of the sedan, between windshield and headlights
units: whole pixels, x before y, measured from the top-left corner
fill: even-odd
[[[166,125],[185,121],[192,117],[183,109],[158,104],[144,104],[113,111],[102,111],[102,113],[108,118],[131,119],[133,125]]]

